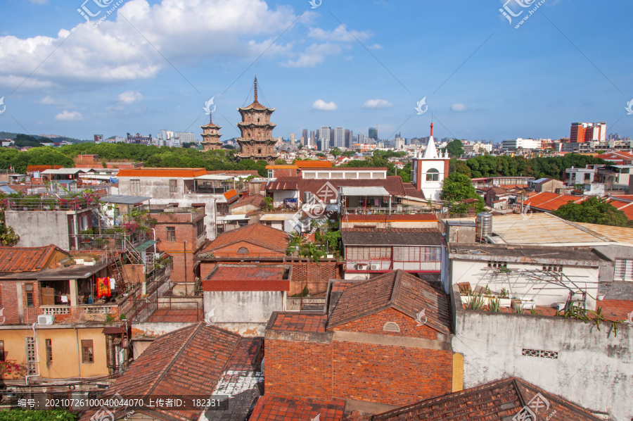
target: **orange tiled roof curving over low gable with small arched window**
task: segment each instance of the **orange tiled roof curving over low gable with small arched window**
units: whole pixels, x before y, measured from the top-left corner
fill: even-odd
[[[262,246],[269,250],[286,253],[288,249],[288,234],[275,228],[262,224],[251,224],[239,227],[237,230],[223,232],[209,244],[203,253],[208,253],[222,247],[229,246],[238,241],[247,241],[257,246]]]

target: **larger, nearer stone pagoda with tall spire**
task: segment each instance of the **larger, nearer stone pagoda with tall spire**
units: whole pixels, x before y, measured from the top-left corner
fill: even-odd
[[[237,154],[239,159],[264,160],[274,163],[277,158],[275,153],[276,140],[272,137],[272,130],[276,124],[270,122],[270,115],[274,108],[262,106],[257,101],[257,75],[255,76],[255,101],[250,106],[238,108],[242,115],[242,121],[237,123],[241,137],[236,139],[241,151]]]

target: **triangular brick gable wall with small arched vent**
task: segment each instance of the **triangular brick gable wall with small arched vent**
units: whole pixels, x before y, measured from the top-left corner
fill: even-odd
[[[383,326],[386,322],[397,323],[400,328],[400,332],[383,331]],[[438,333],[437,330],[432,327],[428,327],[427,325],[418,326],[418,323],[415,320],[411,319],[408,315],[395,310],[395,308],[388,308],[387,310],[374,313],[364,318],[352,320],[344,325],[334,327],[332,330],[420,339],[437,339]]]

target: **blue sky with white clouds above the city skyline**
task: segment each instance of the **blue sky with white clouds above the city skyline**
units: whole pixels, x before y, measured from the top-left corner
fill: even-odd
[[[257,74],[275,136],[426,136],[432,115],[436,137],[633,136],[631,1],[511,0],[512,23],[499,0],[89,0],[90,22],[82,1],[0,1],[0,131],[199,139],[214,97],[229,139]]]

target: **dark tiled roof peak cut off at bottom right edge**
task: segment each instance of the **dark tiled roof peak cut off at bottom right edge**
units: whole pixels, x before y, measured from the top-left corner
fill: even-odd
[[[541,396],[537,397],[537,394]],[[472,389],[426,399],[386,413],[373,415],[371,421],[504,421],[513,420],[532,399],[539,399],[538,419],[557,421],[598,421],[580,406],[550,394],[533,384],[511,377]],[[544,399],[544,400],[543,400]],[[534,402],[534,401],[533,401]],[[534,405],[534,403],[532,403]],[[532,417],[516,419],[531,420]]]

